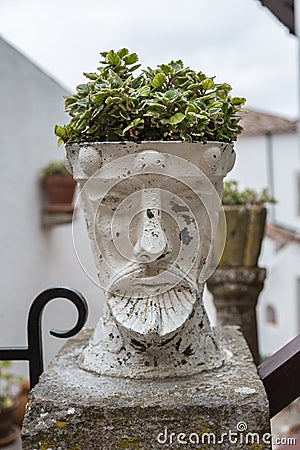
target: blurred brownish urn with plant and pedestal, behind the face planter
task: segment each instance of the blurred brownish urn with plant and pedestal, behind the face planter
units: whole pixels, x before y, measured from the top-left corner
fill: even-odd
[[[217,270],[207,287],[214,297],[219,325],[241,328],[256,364],[260,362],[256,305],[263,289],[266,270],[257,266],[265,231],[266,203],[275,203],[267,189],[239,190],[237,181],[224,183],[223,208],[227,235]],[[215,248],[220,254],[223,233],[217,232]]]

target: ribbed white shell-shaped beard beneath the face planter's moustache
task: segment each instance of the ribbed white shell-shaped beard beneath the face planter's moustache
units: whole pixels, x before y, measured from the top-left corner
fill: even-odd
[[[183,287],[154,297],[111,295],[108,303],[115,320],[127,330],[144,337],[166,337],[190,317],[196,298],[195,293]]]

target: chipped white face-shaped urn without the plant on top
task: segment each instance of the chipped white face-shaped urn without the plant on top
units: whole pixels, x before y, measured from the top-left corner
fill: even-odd
[[[132,378],[221,366],[202,293],[232,144],[80,143],[66,152],[106,297],[80,366]]]

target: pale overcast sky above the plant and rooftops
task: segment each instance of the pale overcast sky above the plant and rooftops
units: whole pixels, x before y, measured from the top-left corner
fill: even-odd
[[[249,108],[298,115],[297,39],[257,0],[0,0],[0,35],[72,91],[100,51],[128,47],[143,66],[182,59]]]

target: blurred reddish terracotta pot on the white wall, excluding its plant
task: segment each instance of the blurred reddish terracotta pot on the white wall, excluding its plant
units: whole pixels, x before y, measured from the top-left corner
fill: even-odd
[[[76,182],[71,175],[44,176],[42,185],[48,211],[73,211]]]

